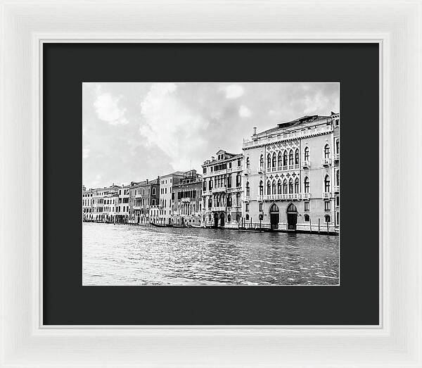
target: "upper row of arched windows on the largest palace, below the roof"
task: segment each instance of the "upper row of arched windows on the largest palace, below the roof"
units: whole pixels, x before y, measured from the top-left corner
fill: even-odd
[[[339,141],[335,142],[337,151],[339,150]],[[324,146],[324,158],[330,158],[331,147],[329,144]],[[309,147],[306,146],[303,150],[303,160],[309,161]],[[293,148],[290,148],[290,151],[279,151],[278,154],[275,152],[268,153],[267,155],[267,167],[283,167],[288,165],[299,165],[299,148],[296,148],[293,151]],[[260,167],[264,167],[264,155],[260,156]],[[246,158],[246,168],[250,168],[250,158]]]

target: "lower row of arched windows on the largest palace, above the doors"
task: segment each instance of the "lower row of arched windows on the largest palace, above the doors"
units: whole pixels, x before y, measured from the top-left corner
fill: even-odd
[[[260,181],[260,196],[264,195],[264,182]],[[309,193],[310,189],[310,182],[309,177],[305,177],[303,180],[303,190],[304,193]],[[324,177],[324,191],[326,193],[331,191],[331,179],[330,175],[326,175]],[[287,194],[287,193],[300,193],[299,188],[299,178],[293,180],[292,177],[290,179],[273,179],[267,181],[267,194]],[[246,182],[246,196],[250,196],[250,184]]]

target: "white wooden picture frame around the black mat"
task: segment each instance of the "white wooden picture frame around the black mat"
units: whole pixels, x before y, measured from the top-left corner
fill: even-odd
[[[421,5],[2,1],[0,366],[422,367]],[[44,42],[379,43],[379,326],[43,325]]]

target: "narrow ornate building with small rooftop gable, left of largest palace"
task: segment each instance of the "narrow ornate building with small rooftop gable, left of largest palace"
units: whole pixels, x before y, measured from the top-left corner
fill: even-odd
[[[238,227],[242,220],[243,155],[217,152],[203,167],[203,224]]]

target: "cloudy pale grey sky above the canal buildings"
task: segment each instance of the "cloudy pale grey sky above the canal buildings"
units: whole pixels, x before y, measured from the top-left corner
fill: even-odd
[[[219,148],[303,115],[339,112],[337,83],[83,83],[87,188],[200,170]]]

